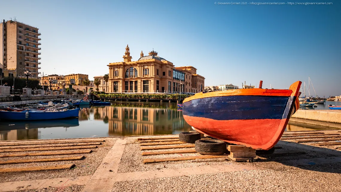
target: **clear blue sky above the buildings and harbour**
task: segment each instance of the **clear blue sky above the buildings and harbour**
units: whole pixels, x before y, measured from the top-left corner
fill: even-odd
[[[263,80],[263,88],[285,89],[310,76],[319,96],[341,95],[340,1],[214,2],[2,0],[0,18],[39,28],[44,74],[104,75],[129,44],[133,60],[154,48],[175,66],[197,68],[205,85]]]

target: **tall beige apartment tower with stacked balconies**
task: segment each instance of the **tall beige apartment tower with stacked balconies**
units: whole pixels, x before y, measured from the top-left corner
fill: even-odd
[[[0,30],[0,67],[4,76],[25,77],[24,71],[29,70],[32,78],[39,78],[39,29],[18,21],[3,20]]]

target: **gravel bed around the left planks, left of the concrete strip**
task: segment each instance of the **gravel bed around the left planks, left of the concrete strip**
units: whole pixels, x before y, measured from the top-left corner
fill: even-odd
[[[62,165],[62,164],[75,164],[73,169],[56,170],[56,171],[39,171],[39,172],[21,172],[21,173],[3,173],[0,174],[0,182],[9,181],[23,181],[23,180],[36,180],[36,179],[51,179],[62,177],[76,177],[92,175],[98,166],[103,161],[108,151],[115,144],[117,138],[106,138],[102,145],[98,145],[98,148],[91,149],[92,153],[84,154],[69,154],[69,155],[54,155],[54,156],[32,156],[32,157],[11,157],[0,158],[3,160],[15,160],[15,159],[36,159],[36,158],[59,158],[59,157],[72,157],[72,156],[85,156],[83,160],[76,161],[56,161],[56,162],[38,162],[38,163],[19,163],[19,164],[5,164],[0,165],[0,168],[6,167],[25,167],[25,166],[44,166],[44,165]],[[60,141],[60,140],[59,140]],[[49,145],[46,145],[48,147]],[[79,149],[90,150],[90,149]],[[70,150],[60,150],[70,151]],[[48,152],[48,151],[27,151],[27,152],[6,152],[0,154],[14,154],[14,153],[36,153],[36,152]],[[57,152],[57,151],[55,151]]]

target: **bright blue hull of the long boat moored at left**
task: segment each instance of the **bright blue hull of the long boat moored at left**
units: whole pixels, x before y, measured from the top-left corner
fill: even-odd
[[[28,116],[26,114],[28,112]],[[1,120],[48,120],[48,119],[65,119],[78,117],[79,109],[70,109],[58,112],[42,112],[42,111],[23,111],[8,112],[0,111]],[[27,117],[27,118],[26,118]]]

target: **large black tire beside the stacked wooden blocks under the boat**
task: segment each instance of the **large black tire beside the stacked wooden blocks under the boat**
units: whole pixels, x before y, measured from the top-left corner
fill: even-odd
[[[197,140],[195,151],[203,155],[221,155],[226,152],[226,142],[219,139]]]

